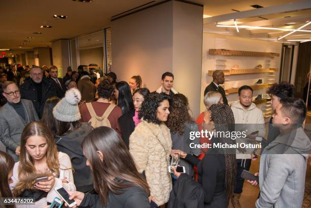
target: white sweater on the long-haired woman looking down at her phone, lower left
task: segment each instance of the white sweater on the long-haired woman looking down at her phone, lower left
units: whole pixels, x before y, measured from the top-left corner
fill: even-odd
[[[47,202],[51,203],[55,197],[59,198],[59,195],[54,190],[55,187],[63,186],[67,191],[76,191],[76,186],[74,184],[73,174],[72,174],[72,165],[69,156],[66,153],[58,152],[58,162],[59,162],[59,172],[64,172],[64,179],[67,177],[69,183],[63,183],[61,179],[55,177],[54,187],[49,191],[46,198],[42,198],[39,201],[36,201],[33,205],[16,205],[16,208],[42,208],[47,206]],[[15,163],[13,168],[13,183],[10,184],[11,190],[19,182],[18,179],[18,165],[19,162]]]

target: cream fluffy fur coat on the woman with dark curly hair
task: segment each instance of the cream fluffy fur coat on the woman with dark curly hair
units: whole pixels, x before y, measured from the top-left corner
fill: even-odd
[[[171,150],[171,134],[165,124],[142,120],[130,136],[130,153],[138,171],[145,171],[150,194],[158,205],[168,202],[172,190],[168,172]]]

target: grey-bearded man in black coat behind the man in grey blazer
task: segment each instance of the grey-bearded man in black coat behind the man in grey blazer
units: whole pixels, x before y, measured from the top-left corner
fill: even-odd
[[[34,66],[30,70],[30,77],[20,85],[21,98],[33,102],[39,118],[42,117],[44,103],[47,99],[57,96],[55,85],[43,77],[42,69]]]

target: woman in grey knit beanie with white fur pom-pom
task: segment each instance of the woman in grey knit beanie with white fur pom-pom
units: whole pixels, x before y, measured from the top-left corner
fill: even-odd
[[[83,156],[82,141],[92,127],[88,123],[80,123],[81,114],[79,102],[81,93],[77,88],[71,88],[53,108],[55,118],[57,150],[69,155],[74,168],[74,182],[77,191],[87,192],[92,190],[93,179],[90,168],[86,166]]]

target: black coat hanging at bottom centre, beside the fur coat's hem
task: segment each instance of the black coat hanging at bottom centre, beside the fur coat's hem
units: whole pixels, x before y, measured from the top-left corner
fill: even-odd
[[[188,174],[181,174],[170,194],[168,208],[203,208],[204,192]]]

